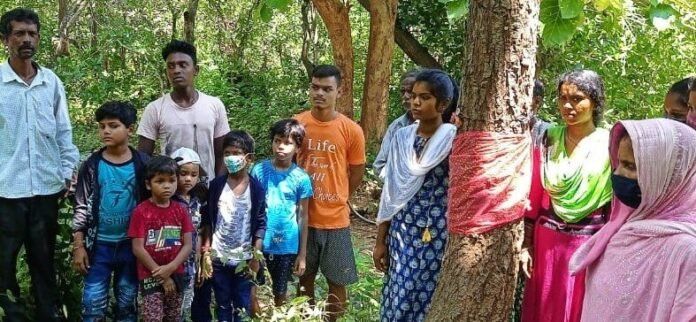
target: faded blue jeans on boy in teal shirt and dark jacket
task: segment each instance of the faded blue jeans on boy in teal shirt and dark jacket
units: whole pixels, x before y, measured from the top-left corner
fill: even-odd
[[[131,241],[97,241],[94,247],[82,293],[84,322],[102,321],[107,315],[112,275],[116,298],[113,321],[137,321],[138,276]]]

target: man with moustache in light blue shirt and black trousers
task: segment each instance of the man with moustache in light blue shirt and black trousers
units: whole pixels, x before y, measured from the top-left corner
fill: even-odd
[[[53,266],[58,199],[79,154],[63,83],[34,60],[41,23],[17,8],[0,18],[9,59],[0,65],[0,308],[3,321],[25,321],[17,302],[17,255],[26,250],[37,321],[58,321]],[[80,245],[75,245],[80,247]],[[10,296],[13,295],[12,297]]]

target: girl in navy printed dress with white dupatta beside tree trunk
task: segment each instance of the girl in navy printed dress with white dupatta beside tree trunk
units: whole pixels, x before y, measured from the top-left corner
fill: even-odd
[[[411,112],[418,122],[397,131],[389,147],[377,215],[375,267],[385,272],[381,321],[423,321],[447,241],[448,156],[456,128],[442,114],[456,103],[443,71],[416,77]]]

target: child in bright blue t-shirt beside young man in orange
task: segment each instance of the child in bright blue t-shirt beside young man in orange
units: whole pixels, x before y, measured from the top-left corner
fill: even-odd
[[[304,127],[297,120],[276,122],[271,127],[273,158],[251,171],[251,176],[266,188],[268,226],[263,252],[276,306],[287,299],[289,275],[301,276],[305,270],[307,204],[312,196],[312,181],[294,162],[304,136]]]

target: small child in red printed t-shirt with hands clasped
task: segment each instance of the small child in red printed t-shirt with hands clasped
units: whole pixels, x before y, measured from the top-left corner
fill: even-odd
[[[148,162],[145,185],[152,197],[135,208],[128,228],[146,322],[181,319],[181,277],[191,254],[193,225],[188,211],[170,201],[177,189],[176,171],[176,161],[169,157]]]

